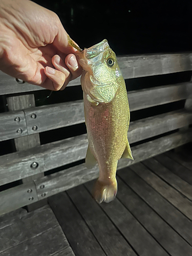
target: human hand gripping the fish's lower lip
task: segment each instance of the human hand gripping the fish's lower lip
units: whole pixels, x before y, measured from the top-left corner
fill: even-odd
[[[58,16],[29,0],[0,1],[0,70],[49,90],[81,75]]]

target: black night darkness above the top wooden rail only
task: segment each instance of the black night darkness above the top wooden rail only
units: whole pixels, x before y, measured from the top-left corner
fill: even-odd
[[[192,51],[189,0],[34,2],[56,12],[81,48],[106,38],[117,55]]]

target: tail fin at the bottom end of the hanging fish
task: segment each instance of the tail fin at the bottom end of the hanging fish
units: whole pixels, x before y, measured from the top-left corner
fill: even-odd
[[[96,181],[93,196],[100,204],[102,202],[109,203],[115,199],[117,194],[117,180],[110,180],[108,183]]]

